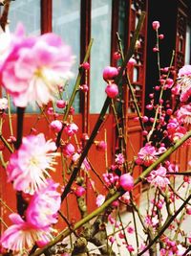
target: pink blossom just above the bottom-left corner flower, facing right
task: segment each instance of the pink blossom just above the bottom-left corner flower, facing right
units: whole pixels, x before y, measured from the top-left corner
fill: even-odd
[[[57,222],[61,197],[56,191],[58,183],[48,179],[48,185],[33,195],[26,211],[27,221],[36,228],[43,228]]]

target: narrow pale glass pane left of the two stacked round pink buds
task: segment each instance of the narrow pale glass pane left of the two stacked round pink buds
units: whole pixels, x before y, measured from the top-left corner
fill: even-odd
[[[99,113],[106,99],[106,82],[102,79],[102,72],[105,66],[110,65],[111,20],[112,1],[92,1],[91,113]]]

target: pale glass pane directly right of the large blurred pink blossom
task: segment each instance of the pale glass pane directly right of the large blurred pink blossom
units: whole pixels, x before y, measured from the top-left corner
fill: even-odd
[[[56,0],[53,1],[53,32],[60,35],[62,39],[72,47],[75,62],[72,72],[74,79],[69,81],[64,92],[64,99],[69,99],[73,89],[74,81],[78,72],[80,52],[80,1],[79,0]],[[75,112],[79,112],[79,94],[74,100]]]

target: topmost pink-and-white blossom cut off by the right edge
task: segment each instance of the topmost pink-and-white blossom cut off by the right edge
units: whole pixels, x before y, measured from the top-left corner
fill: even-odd
[[[191,96],[191,65],[184,65],[178,73],[178,81],[175,88],[175,94],[180,94],[180,102],[186,102]]]

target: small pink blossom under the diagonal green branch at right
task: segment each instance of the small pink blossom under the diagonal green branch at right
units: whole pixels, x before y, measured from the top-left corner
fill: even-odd
[[[166,177],[166,168],[160,166],[158,170],[154,170],[147,177],[147,181],[156,187],[165,188],[170,184],[169,179]]]

